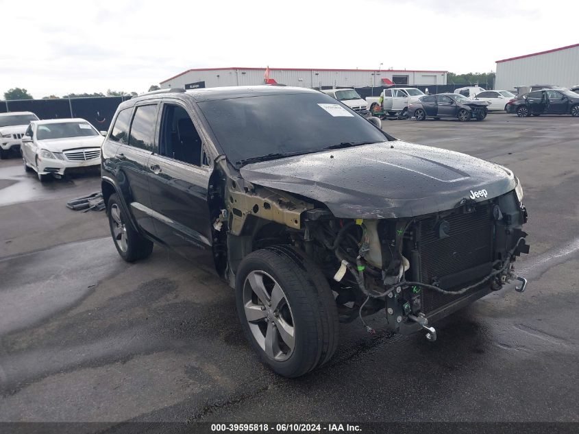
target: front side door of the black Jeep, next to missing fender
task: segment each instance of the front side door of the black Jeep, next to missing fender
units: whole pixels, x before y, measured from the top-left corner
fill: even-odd
[[[149,158],[156,237],[188,258],[212,245],[208,206],[210,161],[198,125],[180,101],[160,111],[158,152]]]

